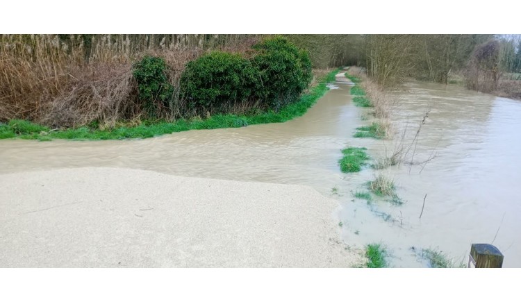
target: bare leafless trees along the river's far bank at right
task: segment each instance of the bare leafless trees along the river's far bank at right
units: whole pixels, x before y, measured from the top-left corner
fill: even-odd
[[[521,35],[365,35],[367,75],[383,87],[412,77],[465,83],[521,99]]]

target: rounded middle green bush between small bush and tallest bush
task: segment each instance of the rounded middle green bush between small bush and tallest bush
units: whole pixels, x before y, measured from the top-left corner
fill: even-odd
[[[215,111],[228,102],[242,102],[256,90],[258,70],[238,53],[213,51],[188,62],[181,91],[190,108]]]

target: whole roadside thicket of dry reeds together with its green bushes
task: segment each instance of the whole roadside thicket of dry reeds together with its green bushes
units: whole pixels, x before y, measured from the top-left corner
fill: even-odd
[[[281,110],[307,51],[257,35],[0,35],[0,121],[113,128]]]

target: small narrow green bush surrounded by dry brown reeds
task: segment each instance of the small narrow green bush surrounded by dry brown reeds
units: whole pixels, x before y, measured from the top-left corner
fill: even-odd
[[[144,56],[134,65],[133,76],[138,81],[139,97],[151,116],[156,115],[158,106],[167,105],[174,94],[167,68],[163,58],[152,56]]]

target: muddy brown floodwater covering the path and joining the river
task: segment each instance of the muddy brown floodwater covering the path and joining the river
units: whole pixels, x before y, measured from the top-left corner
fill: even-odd
[[[369,121],[361,119],[368,109],[352,103],[349,85],[331,88],[306,115],[282,124],[186,131],[146,140],[1,140],[0,173],[128,167],[311,185],[340,202],[332,215],[342,222],[338,227],[343,240],[357,246],[381,242],[392,267],[427,267],[420,255],[429,248],[466,263],[470,244],[491,242],[504,253],[504,267],[521,267],[520,101],[452,85],[407,83],[405,91],[395,92],[395,140],[373,140],[352,137],[357,126]],[[435,157],[424,166],[404,164],[382,172],[394,178],[405,203],[376,199],[368,205],[355,199],[352,194],[367,190],[365,183],[379,172],[365,168],[342,174],[340,149],[365,146],[378,158],[399,144],[405,126],[408,147],[429,108],[410,154],[416,162]]]

